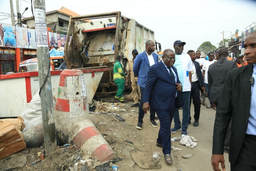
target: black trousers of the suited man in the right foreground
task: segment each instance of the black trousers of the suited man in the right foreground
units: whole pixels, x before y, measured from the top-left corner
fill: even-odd
[[[236,149],[234,149],[236,150]],[[245,134],[244,142],[231,171],[256,171],[256,136]]]

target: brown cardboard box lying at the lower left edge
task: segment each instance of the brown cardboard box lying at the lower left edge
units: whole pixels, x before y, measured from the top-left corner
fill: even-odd
[[[0,159],[26,148],[23,134],[11,122],[0,124]]]

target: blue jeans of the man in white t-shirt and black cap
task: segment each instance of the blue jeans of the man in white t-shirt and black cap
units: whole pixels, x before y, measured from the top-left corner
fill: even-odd
[[[189,113],[190,113],[190,108],[189,108],[189,102],[190,102],[190,91],[185,91],[181,92],[182,99],[184,101],[184,105],[182,107],[182,130],[187,130],[188,129],[188,124],[189,124]],[[179,109],[175,108],[174,112],[174,126],[177,128],[180,128],[180,115],[179,115]]]

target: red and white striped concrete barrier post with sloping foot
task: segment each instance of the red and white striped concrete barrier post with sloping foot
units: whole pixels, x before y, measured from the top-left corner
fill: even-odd
[[[56,135],[62,143],[73,140],[83,153],[103,162],[115,153],[90,120],[85,81],[81,70],[61,72],[54,112]]]

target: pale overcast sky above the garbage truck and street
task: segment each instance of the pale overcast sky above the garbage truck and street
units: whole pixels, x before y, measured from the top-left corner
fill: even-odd
[[[30,0],[18,0],[23,17],[31,17]],[[80,15],[121,11],[128,18],[154,31],[162,49],[174,49],[176,40],[185,41],[184,52],[197,50],[204,41],[218,46],[239,29],[239,35],[256,22],[256,0],[45,0],[46,12],[66,7]],[[16,0],[13,0],[16,14]],[[0,0],[1,12],[11,13],[10,1]],[[1,16],[2,15],[2,16]],[[11,24],[11,20],[0,20]]]

